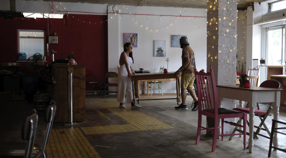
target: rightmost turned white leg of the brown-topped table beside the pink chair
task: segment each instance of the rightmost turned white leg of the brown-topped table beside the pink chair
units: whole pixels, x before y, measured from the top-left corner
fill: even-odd
[[[279,120],[279,107],[280,107],[280,91],[276,91],[275,102],[273,103],[273,119],[274,120]],[[275,123],[275,128],[277,128],[277,123]],[[278,146],[278,137],[277,137],[276,132],[274,132],[273,146],[274,147]]]

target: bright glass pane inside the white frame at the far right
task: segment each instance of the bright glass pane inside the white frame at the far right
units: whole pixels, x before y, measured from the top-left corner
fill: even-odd
[[[285,37],[285,34],[284,34]],[[268,65],[281,65],[282,29],[268,31]]]

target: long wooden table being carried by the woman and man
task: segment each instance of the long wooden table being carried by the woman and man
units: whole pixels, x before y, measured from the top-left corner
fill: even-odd
[[[161,98],[161,99],[141,99],[141,100],[164,100],[164,99],[177,99],[177,104],[179,105],[180,102],[180,82],[179,82],[179,75],[176,75],[174,72],[168,72],[168,73],[137,73],[135,75],[132,75],[131,81],[132,81],[132,90],[133,90],[133,103],[135,104],[135,88],[134,88],[134,82],[138,82],[138,102],[140,99],[139,96],[139,81],[160,81],[162,79],[175,79],[176,81],[176,91],[177,91],[177,98]]]

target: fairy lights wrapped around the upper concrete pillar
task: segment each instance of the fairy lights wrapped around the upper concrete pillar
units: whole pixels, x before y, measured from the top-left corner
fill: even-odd
[[[209,18],[207,18],[207,40],[211,41],[210,39],[212,39],[213,41],[217,41],[214,42],[213,44],[211,44],[211,42],[208,42],[208,53],[207,53],[207,58],[209,60],[211,60],[212,62],[214,60],[217,60],[217,62],[224,62],[227,64],[231,64],[234,65],[234,62],[230,62],[228,58],[230,54],[234,54],[237,51],[237,47],[233,47],[230,45],[229,41],[231,39],[237,39],[237,32],[235,33],[231,33],[234,32],[234,30],[237,28],[236,25],[234,25],[234,22],[237,22],[237,16],[234,16],[232,14],[230,15],[221,15],[223,12],[218,12],[220,10],[220,8],[218,7],[218,3],[222,3],[222,0],[220,0],[220,2],[218,2],[217,0],[215,1],[207,1],[208,3],[208,7],[207,7],[207,11],[208,14],[212,15],[212,12],[215,11],[215,16],[208,16]],[[227,1],[222,8],[222,10],[226,10],[229,12],[232,12],[232,8],[231,6],[227,6],[227,5],[234,5],[235,1]],[[220,5],[221,6],[221,5]],[[219,14],[217,14],[217,12]],[[238,12],[238,10],[237,10]],[[220,28],[220,30],[218,30],[218,28]],[[218,40],[216,40],[218,37],[223,38],[223,40],[220,40],[220,42],[218,42]],[[221,41],[225,41],[223,43],[221,43]],[[225,54],[226,57],[224,57],[224,59],[219,59],[218,58],[218,54],[214,54],[212,55],[210,50],[218,50],[218,54]]]

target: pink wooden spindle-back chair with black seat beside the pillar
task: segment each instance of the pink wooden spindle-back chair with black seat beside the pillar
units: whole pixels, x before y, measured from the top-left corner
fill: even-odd
[[[223,136],[229,136],[229,135],[243,135],[243,148],[245,149],[247,114],[225,108],[218,108],[217,89],[215,84],[214,72],[212,71],[212,66],[210,66],[210,72],[208,73],[205,73],[204,71],[198,72],[195,69],[195,77],[198,88],[198,131],[197,131],[196,144],[200,142],[200,131],[205,129],[213,132],[212,151],[215,151],[215,146],[218,136],[221,136],[221,140],[223,141]],[[202,115],[213,118],[214,127],[210,128],[203,127]],[[225,121],[224,120],[225,118],[243,118],[243,126],[234,122]],[[218,122],[219,119],[221,119],[221,126],[219,126]],[[233,126],[243,127],[243,133],[223,134],[224,123],[228,123]],[[219,128],[222,129],[222,134],[218,134]]]

